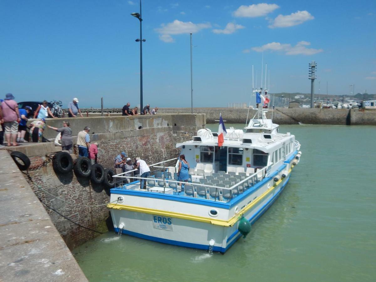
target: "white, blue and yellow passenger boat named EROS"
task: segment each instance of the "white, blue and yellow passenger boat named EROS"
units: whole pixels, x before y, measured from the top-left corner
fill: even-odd
[[[295,136],[279,133],[266,112],[260,106],[244,130],[225,130],[222,121],[219,134],[200,129],[192,140],[176,144],[190,164],[188,183],[176,180],[176,159],[150,165],[146,190],[139,180],[118,183],[108,205],[115,231],[226,252],[273,204],[300,160]]]

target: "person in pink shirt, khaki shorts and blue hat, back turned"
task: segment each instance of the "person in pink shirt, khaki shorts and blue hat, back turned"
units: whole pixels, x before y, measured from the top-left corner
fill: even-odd
[[[5,137],[8,141],[8,146],[18,146],[17,144],[17,132],[18,123],[21,121],[20,112],[18,111],[18,104],[14,100],[14,96],[11,93],[6,94],[2,106],[1,123],[5,126]],[[11,138],[12,137],[12,138]],[[12,142],[11,142],[12,140]]]

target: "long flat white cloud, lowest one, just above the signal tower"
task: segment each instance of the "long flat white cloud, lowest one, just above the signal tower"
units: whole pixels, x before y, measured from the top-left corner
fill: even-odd
[[[324,51],[323,49],[307,48],[306,46],[308,45],[311,45],[311,43],[307,41],[300,41],[295,46],[291,46],[291,44],[281,44],[279,42],[271,42],[271,43],[262,45],[261,47],[253,47],[252,50],[256,52],[279,51],[279,52],[284,52],[285,55],[314,55],[314,54]]]

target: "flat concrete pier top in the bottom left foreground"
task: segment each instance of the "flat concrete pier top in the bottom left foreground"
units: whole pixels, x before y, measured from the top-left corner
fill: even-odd
[[[87,281],[7,150],[0,164],[0,281]]]

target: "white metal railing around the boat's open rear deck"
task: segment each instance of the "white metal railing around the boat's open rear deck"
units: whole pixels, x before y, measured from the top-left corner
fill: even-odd
[[[173,177],[156,177],[156,175],[149,177],[136,177],[125,176],[125,173],[121,173],[115,175],[114,177],[121,179],[121,184],[119,181],[117,181],[118,188],[120,189],[129,190],[136,188],[145,188],[144,191],[149,192],[158,192],[163,194],[166,194],[167,192],[169,194],[175,194],[185,197],[194,197],[213,201],[229,202],[234,197],[237,197],[244,191],[254,186],[255,183],[257,183],[258,181],[264,179],[267,174],[267,170],[269,167],[271,167],[271,165],[273,164],[269,164],[263,168],[260,168],[255,173],[251,174],[250,176],[247,176],[246,178],[240,180],[239,182],[233,185],[232,182],[231,184],[226,184],[227,186],[223,186],[223,183],[221,183],[220,186],[216,186],[216,184],[211,185],[208,182],[184,182],[176,180]],[[132,171],[127,171],[126,173],[130,173]],[[124,183],[123,180],[126,178],[133,179],[134,181],[130,181],[130,183]],[[144,180],[144,187],[140,187],[141,183],[139,183],[137,180],[140,180],[140,182],[141,180]],[[166,191],[167,188],[168,190]],[[143,190],[141,189],[141,191]]]

